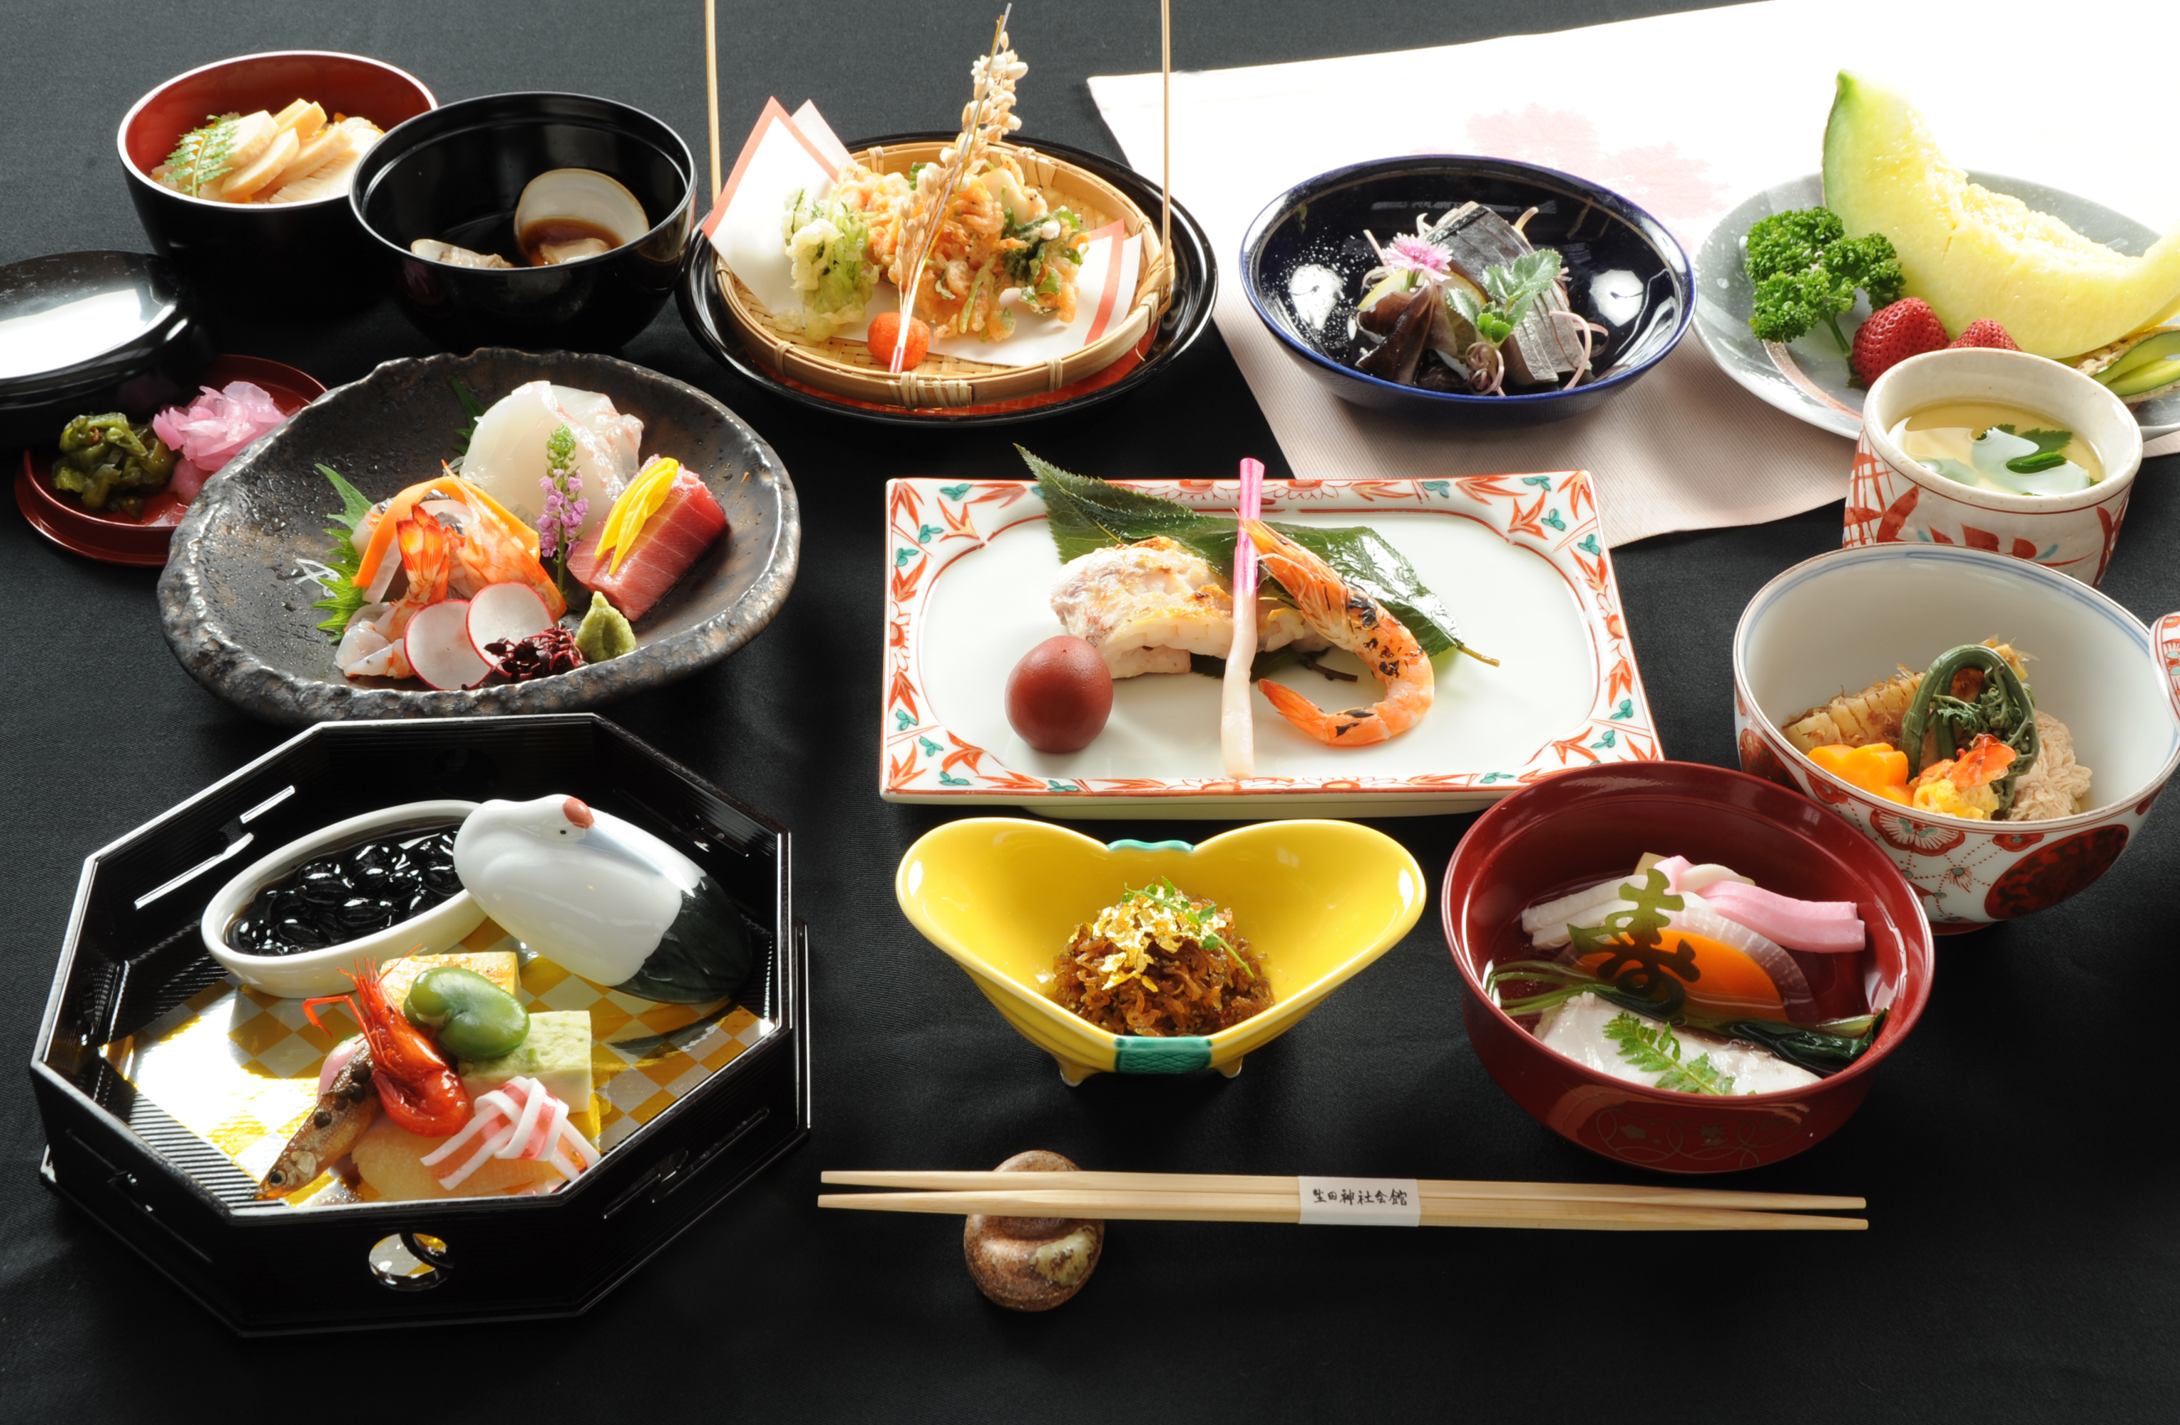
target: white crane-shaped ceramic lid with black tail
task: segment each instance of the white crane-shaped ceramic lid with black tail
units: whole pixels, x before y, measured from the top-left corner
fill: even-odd
[[[453,869],[508,935],[623,994],[735,998],[759,961],[704,867],[578,797],[482,804],[453,839]]]

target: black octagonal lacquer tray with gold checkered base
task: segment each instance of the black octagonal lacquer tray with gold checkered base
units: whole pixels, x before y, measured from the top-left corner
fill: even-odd
[[[259,1203],[249,1177],[100,1057],[220,978],[196,922],[244,854],[397,802],[547,793],[663,837],[772,926],[761,1002],[746,1009],[778,1026],[560,1192]],[[576,1316],[809,1137],[807,987],[787,828],[615,723],[320,723],[85,858],[31,1059],[44,1177],[244,1336]],[[375,1270],[388,1240],[432,1270]]]

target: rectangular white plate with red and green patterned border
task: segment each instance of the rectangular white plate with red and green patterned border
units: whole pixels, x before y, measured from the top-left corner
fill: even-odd
[[[1230,479],[1121,484],[1201,510],[1236,501]],[[1441,656],[1430,712],[1373,747],[1315,743],[1251,695],[1245,780],[1223,776],[1219,680],[1197,673],[1125,678],[1097,741],[1036,752],[1005,712],[1016,660],[1062,632],[1036,482],[894,479],[879,793],[1053,817],[1386,817],[1476,811],[1570,767],[1663,756],[1587,473],[1267,482],[1264,501],[1273,521],[1376,527],[1500,667]],[[1362,669],[1339,651],[1321,662]],[[1321,706],[1378,693],[1301,665],[1277,680]]]

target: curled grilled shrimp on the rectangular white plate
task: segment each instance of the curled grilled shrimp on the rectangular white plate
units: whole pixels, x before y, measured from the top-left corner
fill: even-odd
[[[1325,712],[1301,693],[1264,678],[1256,686],[1280,717],[1328,747],[1367,747],[1400,736],[1421,721],[1424,712],[1430,712],[1432,673],[1415,634],[1367,593],[1352,588],[1336,569],[1271,525],[1249,519],[1243,527],[1256,543],[1264,569],[1295,599],[1310,632],[1360,658],[1369,675],[1384,684],[1384,697],[1376,706]]]

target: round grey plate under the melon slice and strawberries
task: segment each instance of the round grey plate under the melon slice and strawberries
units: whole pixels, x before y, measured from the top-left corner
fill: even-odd
[[[2067,227],[2128,257],[2141,257],[2158,235],[2112,209],[2075,194],[2023,179],[1971,172],[1971,181],[1995,194],[2012,194]],[[1825,327],[1794,342],[1761,342],[1748,329],[1755,309],[1755,283],[1742,268],[1742,238],[1772,214],[1790,214],[1825,203],[1822,174],[1803,174],[1766,187],[1720,218],[1711,235],[1696,248],[1696,336],[1718,366],[1751,394],[1785,414],[1853,440],[1862,434],[1862,388],[1853,383],[1846,355]],[[1840,318],[1840,331],[1855,340],[1855,327],[1870,314],[1866,296],[1855,296],[1855,309]],[[2180,394],[2165,394],[2134,407],[2143,440],[2180,431]]]

